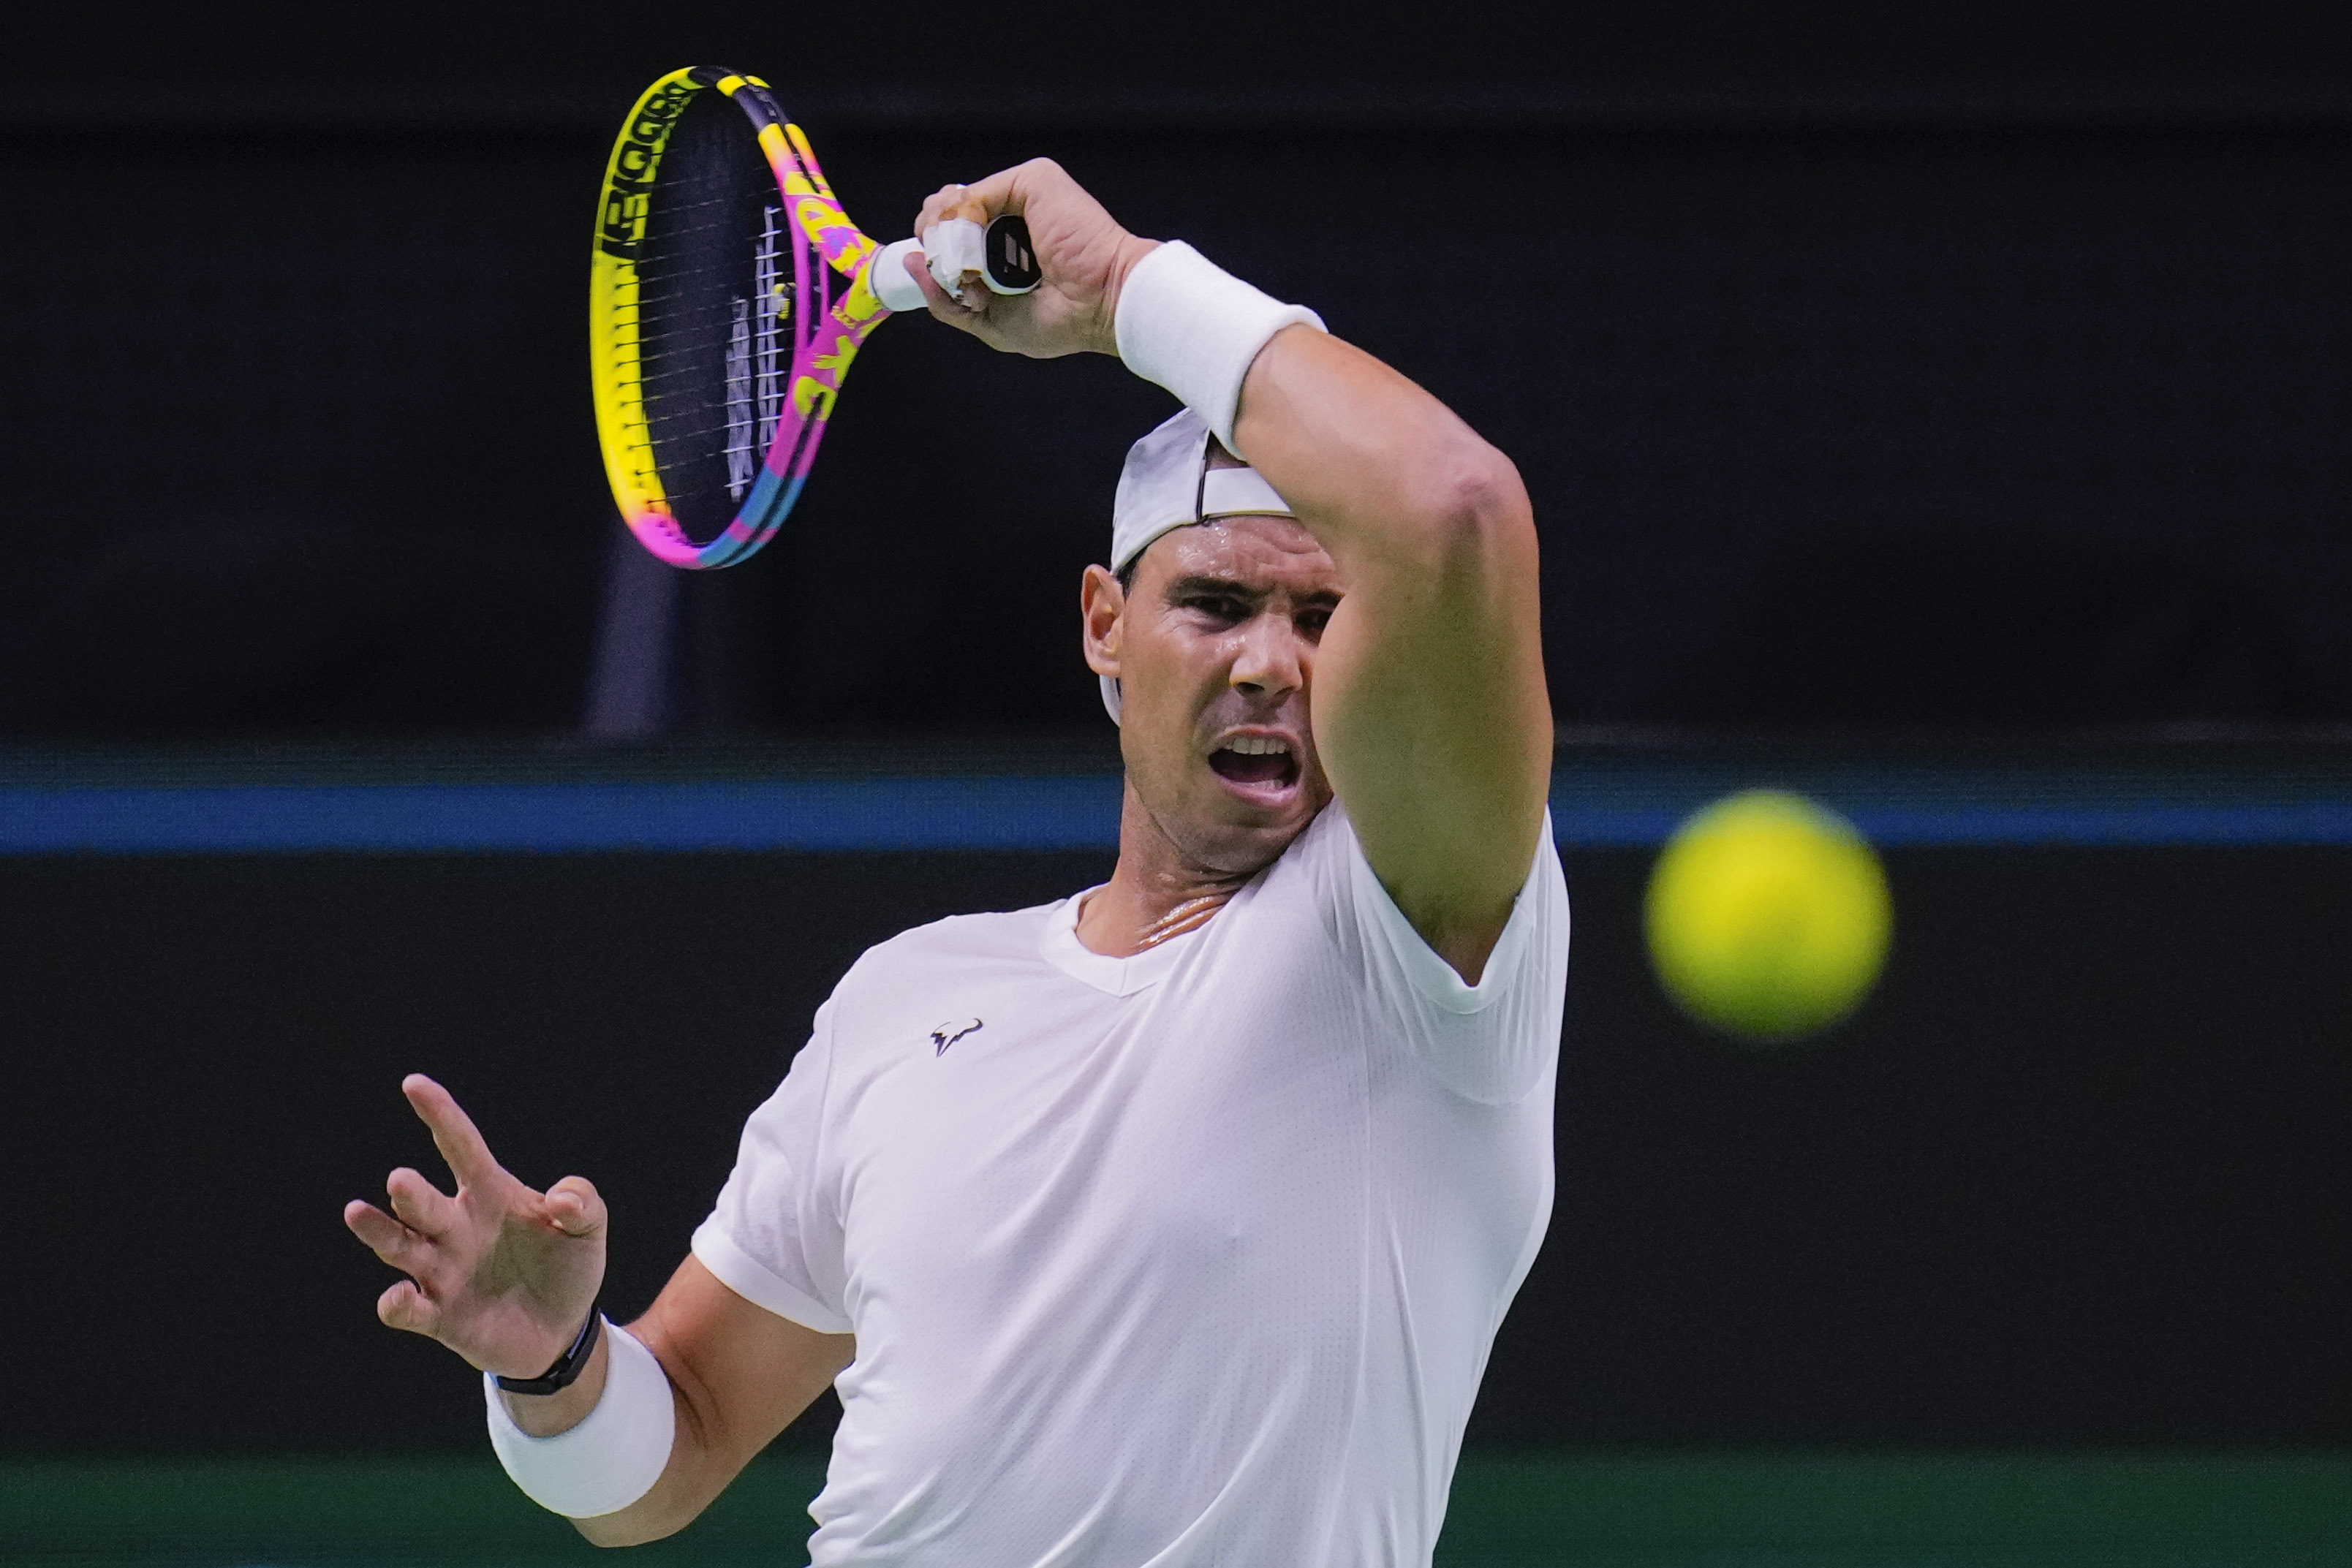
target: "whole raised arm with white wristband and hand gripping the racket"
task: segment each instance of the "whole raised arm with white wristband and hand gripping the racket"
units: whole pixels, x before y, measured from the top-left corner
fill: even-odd
[[[1315,750],[1364,856],[1465,978],[1529,875],[1552,762],[1536,524],[1510,458],[1451,409],[1183,244],[1120,228],[1051,162],[948,186],[917,216],[1021,212],[1044,287],[931,313],[1035,357],[1117,353],[1176,390],[1331,555]]]

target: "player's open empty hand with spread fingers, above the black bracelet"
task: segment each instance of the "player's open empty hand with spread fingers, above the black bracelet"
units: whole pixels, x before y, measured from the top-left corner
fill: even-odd
[[[588,1321],[604,1284],[604,1199],[567,1175],[546,1192],[489,1154],[449,1091],[412,1072],[400,1081],[456,1178],[447,1194],[402,1166],[386,1178],[390,1213],[343,1206],[343,1225],[407,1274],[376,1316],[440,1340],[501,1378],[539,1378]]]

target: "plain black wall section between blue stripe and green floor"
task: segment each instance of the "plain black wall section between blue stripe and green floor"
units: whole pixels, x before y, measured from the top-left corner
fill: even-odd
[[[1571,851],[1559,1206],[1475,1441],[2345,1441],[2352,851],[1893,851],[1811,1048],[1679,1018],[1642,851]],[[473,1443],[336,1213],[435,1171],[430,1070],[684,1255],[868,943],[1108,856],[0,860],[14,1446]],[[823,1422],[790,1441],[816,1441]]]

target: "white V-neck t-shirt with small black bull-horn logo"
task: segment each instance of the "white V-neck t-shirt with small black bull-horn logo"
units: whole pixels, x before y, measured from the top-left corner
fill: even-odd
[[[694,1234],[856,1333],[818,1568],[1428,1563],[1552,1208],[1550,825],[1477,987],[1329,806],[1209,924],[861,957]]]

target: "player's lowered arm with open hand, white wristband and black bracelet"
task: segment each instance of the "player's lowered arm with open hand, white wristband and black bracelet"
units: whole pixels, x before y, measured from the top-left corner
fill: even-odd
[[[849,1335],[764,1312],[694,1258],[642,1319],[612,1326],[595,1314],[607,1220],[595,1187],[567,1175],[534,1192],[447,1088],[423,1074],[400,1088],[456,1192],[400,1168],[390,1213],[343,1208],[407,1274],[376,1316],[492,1373],[501,1462],[588,1540],[619,1547],[689,1523],[849,1363]]]

